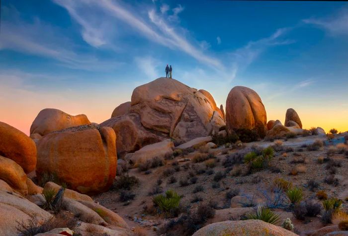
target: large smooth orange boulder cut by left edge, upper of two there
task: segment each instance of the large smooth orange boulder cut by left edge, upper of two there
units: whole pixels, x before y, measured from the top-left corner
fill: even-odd
[[[0,155],[15,161],[25,173],[36,166],[34,141],[18,129],[0,122]]]

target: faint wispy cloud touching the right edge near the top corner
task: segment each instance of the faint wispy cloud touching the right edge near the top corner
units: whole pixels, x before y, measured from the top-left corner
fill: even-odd
[[[343,8],[336,15],[328,18],[304,19],[304,23],[325,29],[331,35],[348,35],[348,8]]]

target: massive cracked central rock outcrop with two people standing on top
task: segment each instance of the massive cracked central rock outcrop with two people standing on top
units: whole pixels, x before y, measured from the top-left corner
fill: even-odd
[[[135,88],[129,113],[100,124],[115,130],[121,156],[168,138],[181,144],[208,136],[224,125],[221,110],[212,97],[169,78]]]

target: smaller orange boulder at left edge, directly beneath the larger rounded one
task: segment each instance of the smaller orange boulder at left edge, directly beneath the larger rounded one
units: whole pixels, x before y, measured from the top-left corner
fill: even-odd
[[[28,194],[27,177],[23,169],[11,159],[0,156],[0,179],[5,181],[13,190]]]

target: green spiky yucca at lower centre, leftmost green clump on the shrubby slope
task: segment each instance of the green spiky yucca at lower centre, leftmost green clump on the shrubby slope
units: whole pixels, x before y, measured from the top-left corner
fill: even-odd
[[[160,214],[166,217],[174,216],[174,212],[179,208],[181,196],[173,190],[167,190],[165,195],[157,195],[152,198],[154,206],[157,207]]]

